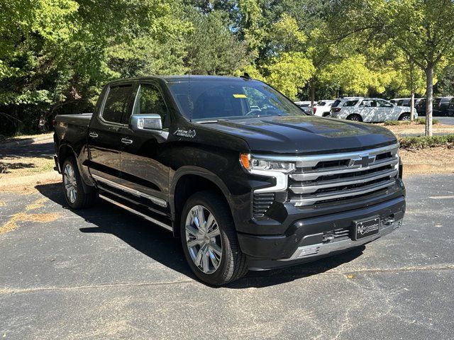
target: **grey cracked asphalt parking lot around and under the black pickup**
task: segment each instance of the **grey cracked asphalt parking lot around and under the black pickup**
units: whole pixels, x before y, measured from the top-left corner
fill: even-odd
[[[409,176],[404,225],[336,258],[199,283],[179,240],[60,185],[0,193],[0,339],[452,339],[454,174]]]

